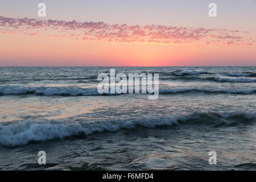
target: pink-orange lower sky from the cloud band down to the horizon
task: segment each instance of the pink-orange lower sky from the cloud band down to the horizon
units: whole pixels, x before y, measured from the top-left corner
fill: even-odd
[[[227,26],[191,26],[178,19],[182,24],[161,25],[141,20],[106,23],[3,13],[0,66],[256,65],[256,28],[249,26],[250,22],[244,25],[246,19],[237,26],[229,22]]]

